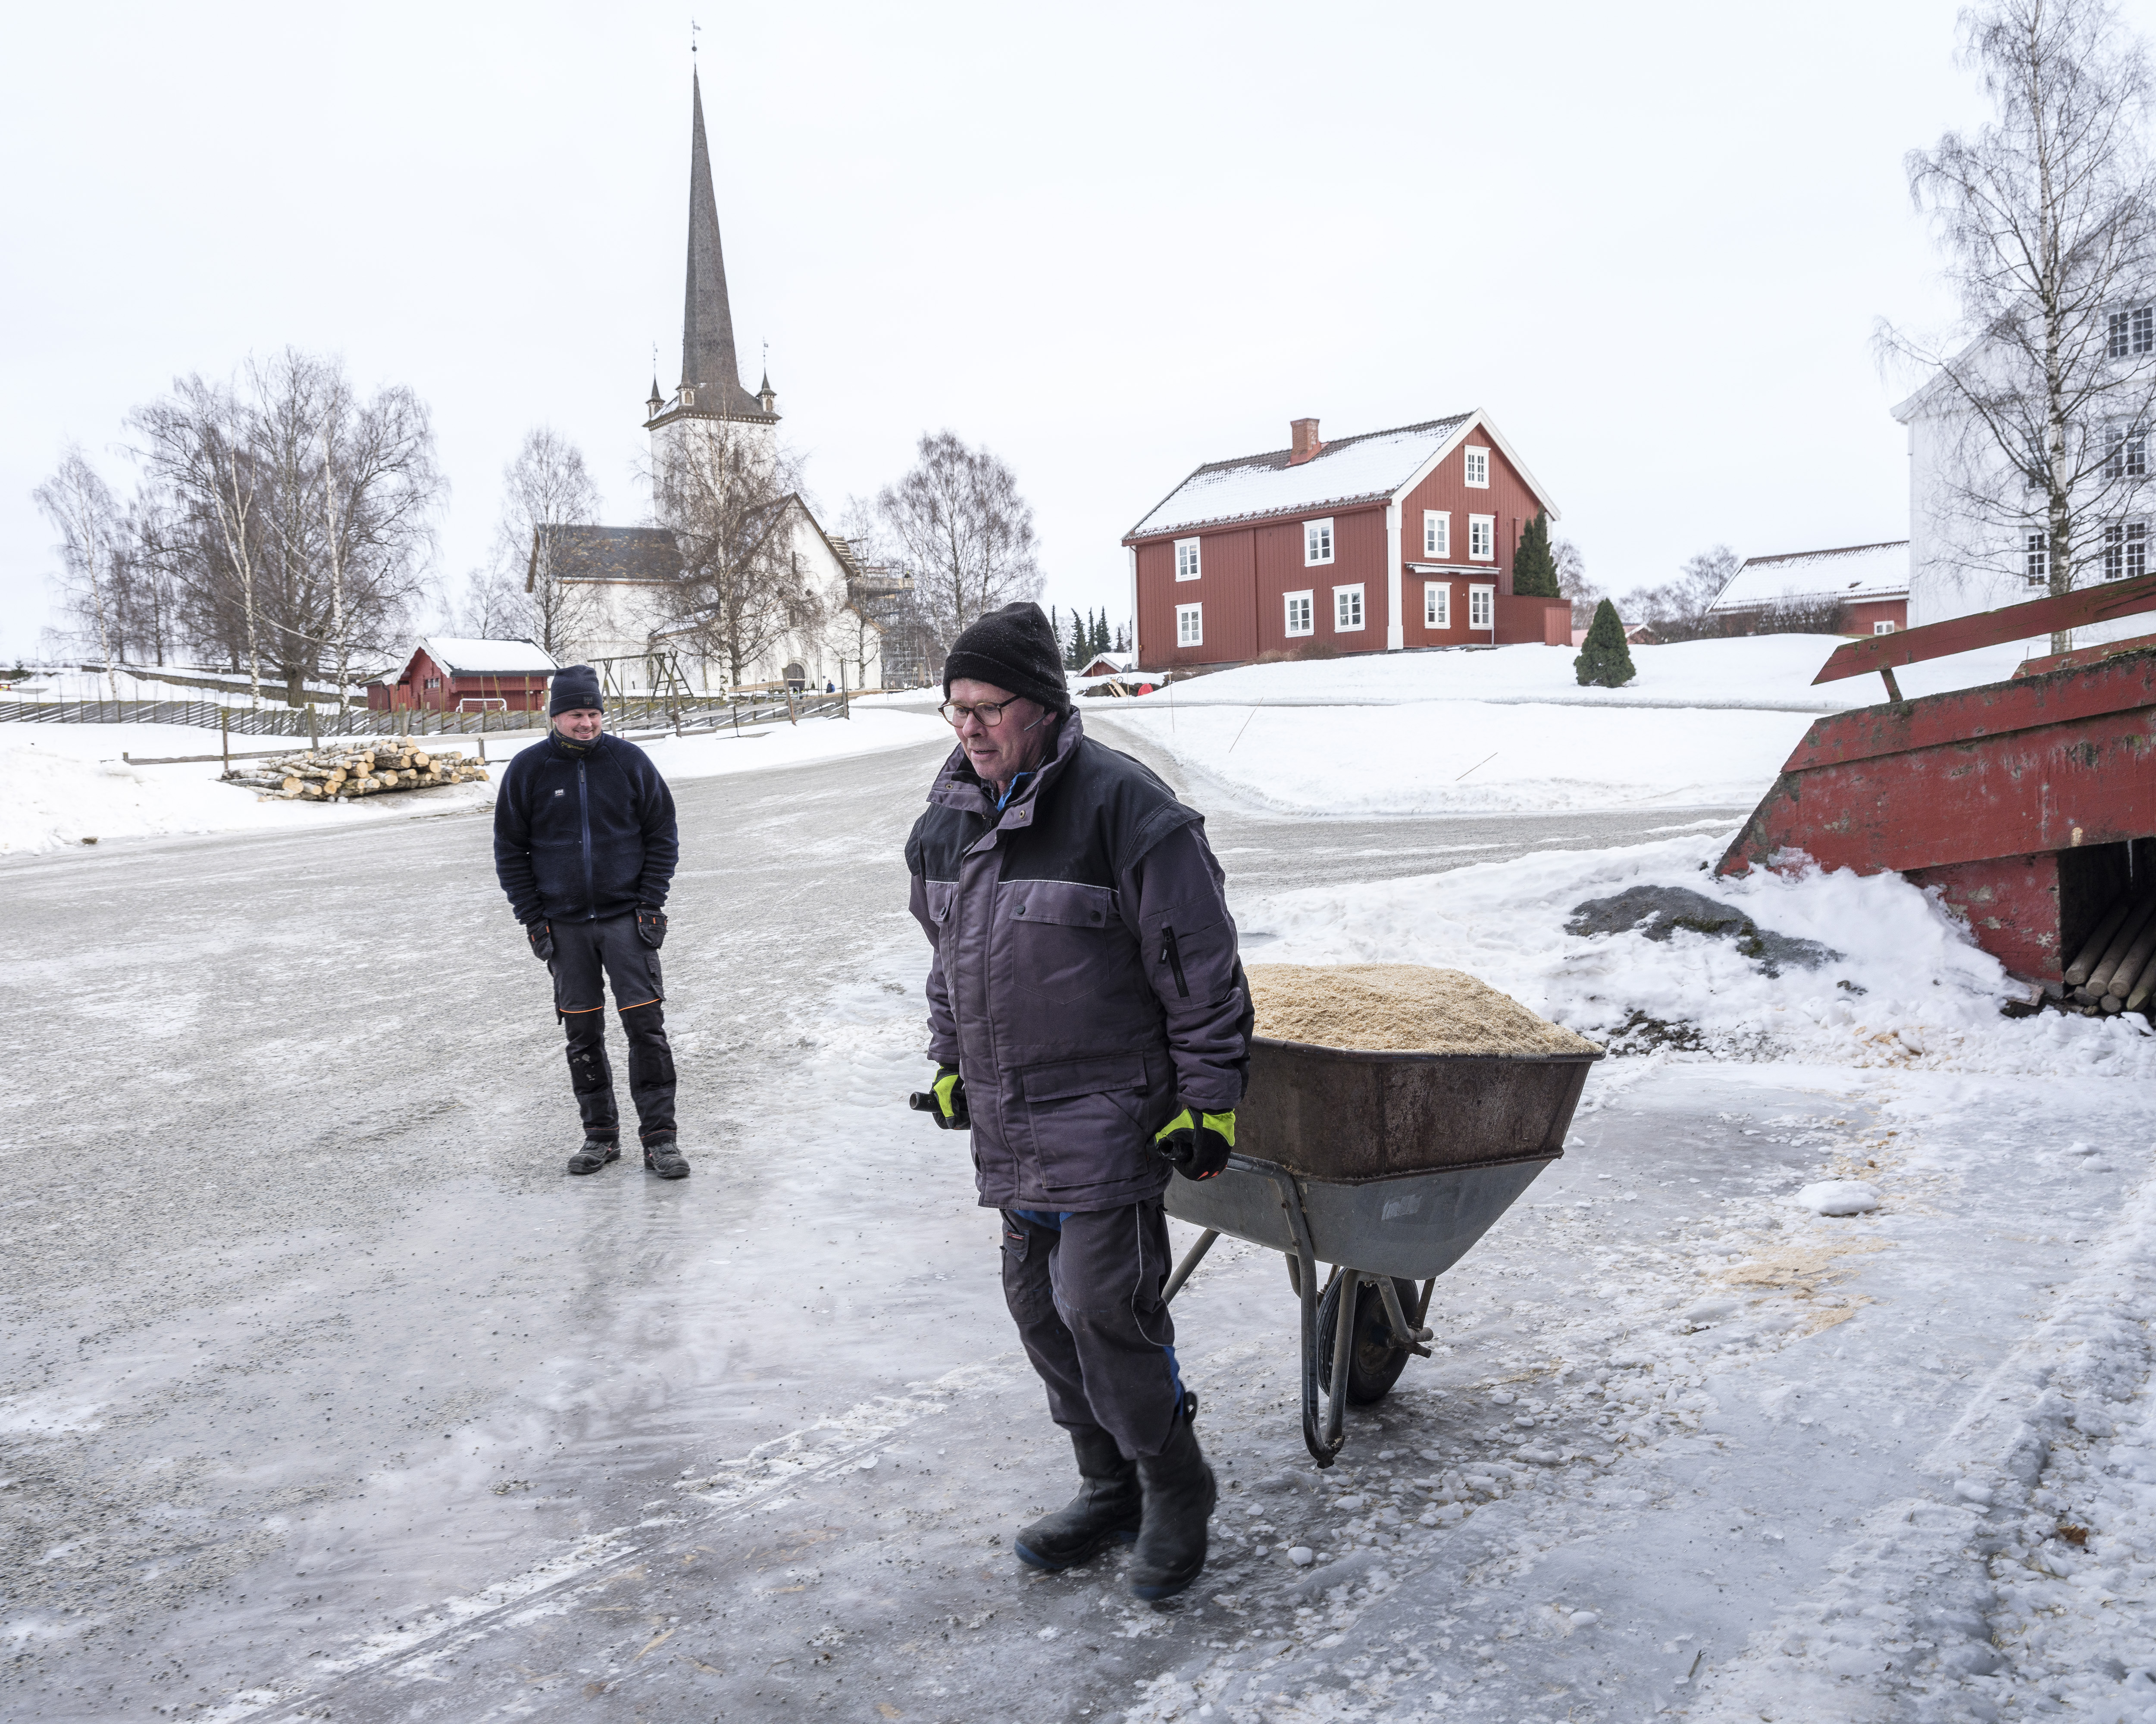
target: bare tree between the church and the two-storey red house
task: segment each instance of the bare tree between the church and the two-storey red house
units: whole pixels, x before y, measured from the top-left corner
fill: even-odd
[[[1018,474],[951,431],[923,433],[914,465],[877,493],[875,517],[946,646],[998,606],[1041,595],[1033,504]]]

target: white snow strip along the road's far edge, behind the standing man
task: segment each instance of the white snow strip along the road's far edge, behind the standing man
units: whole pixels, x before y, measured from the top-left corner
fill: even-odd
[[[442,748],[474,754],[485,741],[487,761],[502,763],[537,737],[535,731],[448,737]],[[865,709],[849,720],[811,718],[740,735],[653,737],[640,739],[640,746],[675,782],[875,754],[942,737],[949,737],[942,720]],[[216,754],[218,741],[216,731],[183,724],[0,724],[0,853],[181,832],[369,828],[494,804],[492,784],[444,784],[343,804],[263,802],[252,789],[220,784],[216,761],[129,765],[121,759]],[[274,743],[261,737],[235,743],[241,754],[267,746]]]

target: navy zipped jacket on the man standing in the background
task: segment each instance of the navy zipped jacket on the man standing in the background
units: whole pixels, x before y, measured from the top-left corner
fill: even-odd
[[[604,922],[666,903],[681,840],[673,791],[621,737],[569,750],[558,735],[502,771],[494,797],[494,873],[520,922]]]

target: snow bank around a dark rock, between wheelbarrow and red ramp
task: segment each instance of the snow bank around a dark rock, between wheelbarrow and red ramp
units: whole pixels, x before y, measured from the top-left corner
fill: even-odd
[[[1544,851],[1442,875],[1259,899],[1246,950],[1266,963],[1432,963],[1615,1052],[1701,1049],[1818,1065],[2156,1078],[2156,1037],[2128,1017],[2042,1013],[1966,929],[1899,875],[1807,871],[1714,879],[1720,838]],[[1574,935],[1578,905],[1634,886],[1729,903],[1757,929],[1826,946],[1820,968],[1677,927]]]

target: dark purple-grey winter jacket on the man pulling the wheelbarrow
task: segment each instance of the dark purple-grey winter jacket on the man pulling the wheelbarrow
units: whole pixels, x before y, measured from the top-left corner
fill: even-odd
[[[934,946],[929,1056],[957,1065],[994,1209],[1156,1196],[1153,1134],[1242,1099],[1250,998],[1205,823],[1151,771],[1061,720],[998,815],[957,750],[906,840]]]

